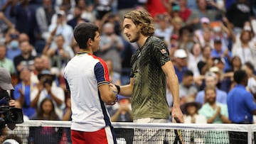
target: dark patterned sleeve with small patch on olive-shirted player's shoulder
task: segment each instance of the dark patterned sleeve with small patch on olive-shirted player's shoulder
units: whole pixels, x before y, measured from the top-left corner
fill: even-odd
[[[156,40],[154,43],[151,44],[151,48],[151,55],[153,56],[153,58],[156,60],[160,67],[171,60],[169,50],[167,49],[163,41]]]

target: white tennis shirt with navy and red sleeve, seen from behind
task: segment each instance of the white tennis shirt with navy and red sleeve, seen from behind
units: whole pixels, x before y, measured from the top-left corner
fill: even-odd
[[[110,126],[110,115],[98,91],[100,85],[110,84],[106,63],[81,52],[68,62],[64,77],[71,97],[71,129],[91,132]]]

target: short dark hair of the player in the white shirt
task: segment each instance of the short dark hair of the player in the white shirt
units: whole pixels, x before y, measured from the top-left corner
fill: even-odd
[[[94,40],[99,28],[93,23],[80,23],[75,26],[74,37],[81,49],[87,49],[87,41],[91,38]]]

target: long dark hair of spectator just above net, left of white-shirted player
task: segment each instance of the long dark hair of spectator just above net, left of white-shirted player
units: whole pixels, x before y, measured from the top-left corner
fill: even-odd
[[[59,118],[58,118],[57,114],[55,113],[55,107],[54,107],[54,104],[53,104],[53,100],[48,98],[48,97],[46,97],[45,99],[43,99],[43,101],[41,101],[40,107],[39,107],[39,109],[37,111],[37,113],[38,113],[37,114],[37,119],[39,119],[39,120],[44,120],[45,119],[43,117],[43,113],[44,113],[44,111],[43,111],[43,104],[46,101],[50,101],[50,104],[52,104],[52,106],[53,106],[53,109],[50,111],[49,117],[48,117],[47,120],[48,121],[58,120]]]

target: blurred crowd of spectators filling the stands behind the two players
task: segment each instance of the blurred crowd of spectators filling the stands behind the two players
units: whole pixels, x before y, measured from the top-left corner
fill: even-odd
[[[70,120],[63,68],[79,50],[73,38],[78,23],[99,26],[101,43],[95,55],[107,62],[111,82],[127,84],[130,58],[138,45],[122,34],[122,16],[133,9],[151,13],[154,35],[169,48],[183,112],[191,115],[185,122],[230,123],[226,97],[235,86],[237,70],[246,70],[250,77],[247,90],[256,95],[253,0],[1,0],[0,67],[11,73],[15,87],[11,96],[24,116]],[[166,95],[171,113],[168,89]],[[218,106],[211,105],[213,99],[208,95],[215,95]],[[132,121],[130,99],[119,98],[118,104],[107,107],[112,121]],[[43,101],[50,101],[52,109],[43,109]],[[191,106],[196,111],[188,109]],[[193,117],[198,111],[206,120]]]

